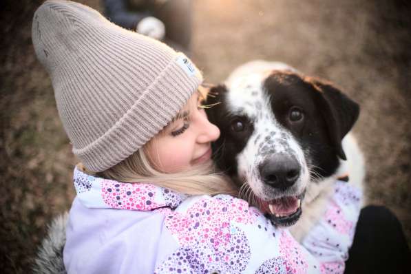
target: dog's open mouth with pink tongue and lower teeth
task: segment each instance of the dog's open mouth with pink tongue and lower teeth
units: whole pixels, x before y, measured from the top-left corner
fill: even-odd
[[[299,196],[284,196],[266,202],[265,212],[271,220],[280,226],[291,226],[302,213],[301,203],[304,193]]]

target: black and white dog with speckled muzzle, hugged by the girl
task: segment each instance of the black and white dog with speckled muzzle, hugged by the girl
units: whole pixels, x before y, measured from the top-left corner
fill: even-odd
[[[362,189],[363,156],[348,134],[359,105],[330,83],[253,61],[211,88],[207,104],[221,131],[218,167],[275,224],[293,225],[297,240],[324,213],[337,178],[348,173]]]

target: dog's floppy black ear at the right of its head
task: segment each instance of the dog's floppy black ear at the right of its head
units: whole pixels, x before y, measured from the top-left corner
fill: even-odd
[[[319,91],[320,111],[326,121],[331,142],[337,155],[347,160],[341,141],[357,121],[359,105],[343,94],[337,87],[318,79],[309,80]]]

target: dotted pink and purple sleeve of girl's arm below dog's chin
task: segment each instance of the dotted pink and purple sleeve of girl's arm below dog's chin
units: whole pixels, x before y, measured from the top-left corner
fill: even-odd
[[[178,248],[157,262],[156,273],[271,273],[273,268],[313,273],[317,268],[288,231],[244,200],[192,196],[173,211],[159,210]]]

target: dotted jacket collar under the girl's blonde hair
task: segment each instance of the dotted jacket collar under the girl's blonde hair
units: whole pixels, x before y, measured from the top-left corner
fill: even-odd
[[[139,182],[118,182],[90,176],[74,168],[77,198],[89,208],[151,211],[161,207],[175,209],[187,196]]]

